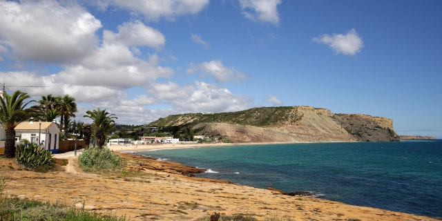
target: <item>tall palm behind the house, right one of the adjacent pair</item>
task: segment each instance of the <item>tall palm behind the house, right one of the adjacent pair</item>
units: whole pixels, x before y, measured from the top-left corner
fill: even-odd
[[[75,98],[70,97],[69,95],[64,95],[56,97],[55,100],[56,109],[61,115],[61,129],[64,129],[64,135],[68,136],[69,125],[67,123],[69,122],[69,117],[75,117],[75,113],[77,112],[77,104],[75,103]]]

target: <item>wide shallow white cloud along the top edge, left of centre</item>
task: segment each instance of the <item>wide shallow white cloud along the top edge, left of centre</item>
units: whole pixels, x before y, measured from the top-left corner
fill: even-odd
[[[209,0],[96,0],[95,4],[103,9],[108,6],[125,8],[144,15],[148,20],[157,21],[196,14],[209,5]]]

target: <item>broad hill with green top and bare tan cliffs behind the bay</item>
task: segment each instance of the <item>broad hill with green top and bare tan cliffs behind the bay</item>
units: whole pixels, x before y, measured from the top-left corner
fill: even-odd
[[[195,135],[224,142],[390,142],[399,141],[392,119],[361,114],[334,114],[325,108],[281,106],[230,113],[169,115],[147,126],[171,131],[192,129]]]

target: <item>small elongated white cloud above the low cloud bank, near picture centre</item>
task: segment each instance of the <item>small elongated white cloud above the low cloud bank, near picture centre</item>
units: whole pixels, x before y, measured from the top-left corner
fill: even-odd
[[[215,77],[215,80],[218,83],[238,81],[246,78],[244,73],[236,70],[235,68],[224,66],[219,60],[212,60],[209,62],[204,61],[199,65],[191,64],[191,67],[187,69],[187,73],[195,73],[197,70]]]

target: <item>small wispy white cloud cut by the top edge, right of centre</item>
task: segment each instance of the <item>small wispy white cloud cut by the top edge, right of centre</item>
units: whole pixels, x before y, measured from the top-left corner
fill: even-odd
[[[278,5],[282,0],[239,0],[242,14],[252,21],[278,24]]]

